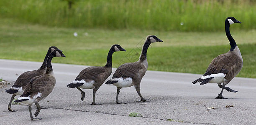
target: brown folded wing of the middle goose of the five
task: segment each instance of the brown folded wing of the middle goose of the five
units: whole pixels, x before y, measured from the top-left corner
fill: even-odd
[[[107,79],[109,77],[110,73],[106,70],[106,68],[101,66],[92,66],[87,67],[84,70],[82,70],[79,75],[77,75],[75,80],[85,80],[86,82],[90,82],[91,80],[94,80],[95,82]]]

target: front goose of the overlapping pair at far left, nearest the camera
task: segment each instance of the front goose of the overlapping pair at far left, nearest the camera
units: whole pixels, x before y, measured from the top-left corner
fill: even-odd
[[[33,77],[25,87],[25,90],[20,97],[14,102],[22,102],[28,104],[28,110],[30,113],[31,120],[41,120],[42,118],[33,118],[31,112],[31,105],[36,104],[37,110],[35,112],[35,117],[39,114],[41,106],[39,101],[47,97],[53,90],[56,79],[54,77],[54,72],[51,66],[51,60],[53,57],[66,57],[61,50],[54,50],[47,58],[47,68],[46,72],[43,75]]]

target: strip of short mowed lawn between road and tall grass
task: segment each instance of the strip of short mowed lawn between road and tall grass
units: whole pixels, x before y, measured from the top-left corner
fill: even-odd
[[[53,62],[79,65],[105,65],[111,45],[119,44],[126,52],[113,54],[113,67],[138,60],[147,35],[164,42],[148,49],[148,70],[204,74],[211,60],[228,52],[229,41],[223,30],[218,32],[166,32],[155,30],[109,30],[58,28],[0,19],[0,58],[42,62],[50,46],[67,56]],[[243,56],[243,69],[238,77],[256,78],[256,30],[230,32]],[[73,34],[77,32],[77,37]],[[39,67],[38,67],[39,68]],[[82,69],[81,69],[82,70]]]

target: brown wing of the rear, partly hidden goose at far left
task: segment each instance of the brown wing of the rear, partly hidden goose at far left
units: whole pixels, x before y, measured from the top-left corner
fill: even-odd
[[[26,86],[33,77],[38,75],[42,75],[42,73],[37,70],[24,72],[17,78],[13,85],[18,85],[18,87]]]

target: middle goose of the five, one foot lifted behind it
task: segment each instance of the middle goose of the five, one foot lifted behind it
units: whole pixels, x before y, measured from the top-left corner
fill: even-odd
[[[113,52],[117,51],[126,51],[120,45],[112,45],[108,52],[107,64],[105,66],[92,66],[87,67],[82,70],[76,79],[67,85],[67,87],[74,88],[76,87],[82,94],[81,100],[84,100],[85,93],[80,88],[83,89],[92,89],[93,88],[93,100],[91,105],[97,105],[95,103],[95,93],[103,84],[103,82],[110,76],[112,73],[112,55]]]

